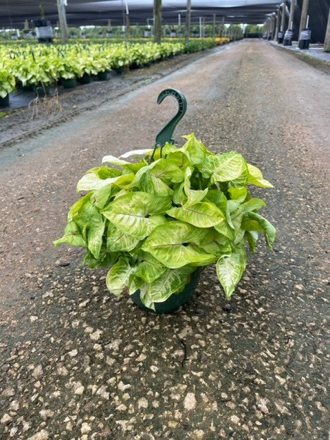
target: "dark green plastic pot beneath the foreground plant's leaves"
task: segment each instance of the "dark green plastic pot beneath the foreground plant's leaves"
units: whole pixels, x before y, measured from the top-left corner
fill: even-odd
[[[144,311],[149,311],[153,314],[170,314],[179,309],[182,305],[188,303],[192,295],[195,293],[199,278],[201,276],[201,269],[195,270],[190,274],[190,281],[185,285],[184,289],[177,294],[171,295],[163,303],[155,303],[155,310],[146,307],[140,299],[140,289],[131,295],[133,302]]]

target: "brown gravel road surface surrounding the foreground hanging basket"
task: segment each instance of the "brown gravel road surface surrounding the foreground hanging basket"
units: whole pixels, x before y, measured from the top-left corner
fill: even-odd
[[[261,41],[190,61],[0,153],[1,440],[330,439],[330,76]],[[165,87],[188,100],[177,139],[240,151],[275,185],[254,195],[278,238],[230,303],[210,267],[158,316],[52,240],[85,170],[153,144]]]

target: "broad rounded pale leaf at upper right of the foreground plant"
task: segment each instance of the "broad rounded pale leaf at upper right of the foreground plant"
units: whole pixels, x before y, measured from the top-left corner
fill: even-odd
[[[210,178],[210,183],[234,181],[243,186],[248,179],[245,159],[235,151],[206,157],[201,164],[201,173]]]

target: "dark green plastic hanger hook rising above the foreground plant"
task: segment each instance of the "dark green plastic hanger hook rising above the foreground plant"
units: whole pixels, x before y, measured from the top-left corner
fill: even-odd
[[[163,102],[166,96],[174,96],[179,104],[179,109],[177,114],[164,126],[164,129],[159,131],[156,136],[156,146],[160,146],[161,148],[166,144],[166,142],[170,142],[170,144],[175,144],[175,140],[173,139],[173,132],[177,123],[184,117],[184,114],[187,110],[187,100],[181,91],[176,89],[164,89],[160,92],[157,98],[157,104]]]

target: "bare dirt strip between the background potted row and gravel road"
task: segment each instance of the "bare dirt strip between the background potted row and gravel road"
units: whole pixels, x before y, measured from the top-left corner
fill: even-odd
[[[74,89],[59,87],[62,112],[38,113],[38,118],[31,118],[29,102],[35,98],[33,92],[17,91],[10,94],[9,107],[1,107],[0,148],[19,142],[27,135],[34,135],[61,123],[74,115],[98,107],[102,102],[123,96],[143,85],[153,83],[174,70],[180,69],[193,61],[207,56],[214,48],[202,53],[182,54],[153,64],[148,68],[127,70],[122,75],[110,72],[111,81],[94,81],[87,85],[78,85]],[[96,93],[96,91],[98,93]],[[50,98],[52,97],[52,94]]]

